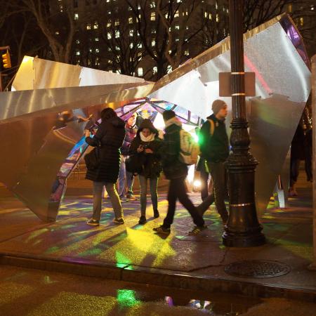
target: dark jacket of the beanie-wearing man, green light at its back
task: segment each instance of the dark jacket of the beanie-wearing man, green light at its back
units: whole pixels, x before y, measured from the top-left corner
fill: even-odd
[[[216,119],[214,114],[207,117],[214,123],[214,131],[211,136],[211,125],[206,121],[199,131],[199,147],[201,156],[207,162],[225,162],[229,155],[228,135],[225,120]]]

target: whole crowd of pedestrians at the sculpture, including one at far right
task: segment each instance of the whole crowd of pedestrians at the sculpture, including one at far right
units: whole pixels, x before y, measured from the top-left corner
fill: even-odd
[[[163,138],[150,119],[142,119],[137,126],[137,114],[134,113],[124,122],[117,117],[111,108],[101,112],[101,123],[96,134],[91,136],[86,130],[86,143],[98,148],[98,165],[88,169],[86,178],[93,181],[93,215],[88,225],[99,225],[102,209],[103,188],[107,190],[114,210],[114,223],[124,224],[124,214],[121,202],[135,200],[133,195],[133,180],[138,176],[140,184],[140,218],[138,223],[147,223],[147,188],[150,188],[150,198],[154,218],[159,218],[157,185],[162,171],[169,180],[167,194],[168,210],[162,225],[154,228],[160,234],[169,234],[176,212],[176,202],[179,200],[192,216],[195,227],[189,235],[197,235],[206,228],[204,212],[213,203],[223,220],[228,220],[228,210],[225,199],[228,196],[225,161],[229,155],[228,134],[225,118],[228,107],[223,100],[215,100],[211,106],[213,114],[206,117],[204,124],[196,130],[199,136],[199,161],[197,171],[201,178],[202,203],[195,206],[187,195],[185,178],[187,164],[180,159],[183,153],[183,127],[181,121],[172,110],[162,114],[165,124]],[[308,131],[310,133],[310,131]],[[290,195],[296,195],[295,182],[298,174],[298,164],[303,150],[303,139],[308,140],[310,134],[298,125],[291,147],[291,183]],[[305,138],[304,138],[305,137]],[[301,147],[302,148],[301,148]],[[300,148],[298,148],[300,147]],[[310,148],[305,146],[305,169],[308,180],[312,180],[310,168]],[[211,193],[208,180],[211,178]],[[116,188],[117,186],[117,188]]]

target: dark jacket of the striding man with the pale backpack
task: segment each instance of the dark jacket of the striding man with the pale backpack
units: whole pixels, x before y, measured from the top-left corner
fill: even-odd
[[[162,169],[167,179],[187,176],[187,166],[180,162],[180,130],[179,124],[166,127],[162,146]]]

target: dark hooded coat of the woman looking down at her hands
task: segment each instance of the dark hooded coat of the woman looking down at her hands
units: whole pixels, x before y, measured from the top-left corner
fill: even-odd
[[[143,129],[150,129],[154,133],[154,140],[150,142],[145,142],[140,138],[140,132]],[[152,154],[146,154],[145,152],[137,152],[137,149],[140,145],[143,145],[145,148],[149,148],[153,151]],[[131,147],[129,150],[130,155],[137,155],[138,162],[141,162],[143,170],[138,173],[140,176],[145,178],[157,178],[162,172],[162,163],[161,163],[161,147],[162,140],[158,138],[158,131],[152,125],[152,122],[149,119],[144,119],[143,123],[140,124],[140,127],[137,131],[136,138],[133,139]]]

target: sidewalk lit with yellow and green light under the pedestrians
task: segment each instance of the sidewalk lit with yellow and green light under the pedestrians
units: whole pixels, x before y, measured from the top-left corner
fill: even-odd
[[[0,191],[0,263],[183,289],[316,301],[316,272],[307,269],[312,262],[310,184],[298,186],[299,197],[290,200],[289,209],[270,205],[261,218],[267,244],[244,249],[223,246],[223,228],[213,206],[204,216],[209,228],[199,237],[187,236],[193,223],[180,204],[171,235],[155,235],[152,228],[166,213],[164,194],[159,197],[161,218],[154,219],[148,207],[147,224],[138,225],[140,205],[129,202],[123,204],[126,225],[117,226],[105,200],[101,225],[93,228],[86,225],[91,191],[86,188],[74,197],[69,194],[76,192],[78,183],[69,185],[58,221],[51,224],[41,222],[17,199]],[[200,203],[198,194],[191,198]],[[245,260],[278,261],[291,270],[260,279],[225,272],[225,266]]]

